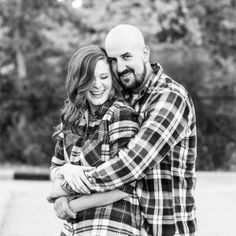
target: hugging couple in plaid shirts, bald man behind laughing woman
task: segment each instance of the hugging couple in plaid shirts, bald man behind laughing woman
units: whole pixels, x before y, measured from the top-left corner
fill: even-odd
[[[61,236],[195,235],[194,105],[149,58],[121,24],[69,62],[48,196]]]

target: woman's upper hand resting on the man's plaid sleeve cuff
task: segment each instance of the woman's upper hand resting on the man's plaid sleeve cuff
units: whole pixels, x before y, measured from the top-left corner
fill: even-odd
[[[78,166],[67,163],[61,167],[60,172],[76,193],[90,194],[93,186],[86,177],[85,172],[90,171],[93,168],[94,167]]]

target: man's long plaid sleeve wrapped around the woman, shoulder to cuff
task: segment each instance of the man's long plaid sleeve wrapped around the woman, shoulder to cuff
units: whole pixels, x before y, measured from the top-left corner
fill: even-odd
[[[139,132],[111,160],[89,173],[96,191],[108,191],[141,179],[176,145],[189,129],[191,110],[173,91],[155,94]]]

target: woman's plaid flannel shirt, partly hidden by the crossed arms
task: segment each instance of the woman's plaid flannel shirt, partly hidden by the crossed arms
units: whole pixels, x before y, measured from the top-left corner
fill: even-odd
[[[63,143],[71,164],[98,167],[125,147],[139,129],[137,113],[120,100],[106,102],[89,120],[87,127],[85,118],[82,119],[76,133],[63,131],[59,134],[51,162],[52,178],[56,178],[54,171],[67,162]],[[80,155],[81,151],[84,156]],[[63,186],[64,190],[74,193],[68,184]],[[141,212],[135,182],[120,189],[128,196],[113,204],[78,212],[75,220],[64,223],[61,235],[139,235]]]

